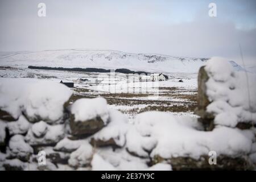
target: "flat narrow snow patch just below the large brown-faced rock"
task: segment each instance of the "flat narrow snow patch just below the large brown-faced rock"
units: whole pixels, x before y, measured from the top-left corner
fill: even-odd
[[[73,152],[77,150],[82,144],[86,144],[85,140],[70,140],[68,138],[64,138],[60,140],[54,147],[56,151],[63,151],[63,152]]]

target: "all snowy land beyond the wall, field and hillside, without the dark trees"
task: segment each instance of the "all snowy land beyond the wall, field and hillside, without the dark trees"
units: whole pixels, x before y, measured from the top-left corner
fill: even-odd
[[[74,82],[73,101],[101,96],[108,100],[110,108],[129,118],[150,110],[191,115],[196,106],[197,71],[205,61],[207,59],[101,50],[0,52],[0,77]],[[140,82],[139,75],[28,69],[29,65],[127,68],[164,73],[168,80]]]

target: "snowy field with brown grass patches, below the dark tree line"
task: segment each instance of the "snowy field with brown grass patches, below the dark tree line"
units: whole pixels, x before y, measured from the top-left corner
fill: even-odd
[[[127,79],[123,73],[88,73],[1,67],[2,78],[30,78],[54,82],[74,82],[74,98],[101,96],[110,100],[109,107],[133,118],[147,110],[192,114],[196,105],[197,74],[168,73],[167,81],[139,82],[138,75]],[[183,82],[179,82],[183,80]],[[188,108],[186,108],[188,106]]]

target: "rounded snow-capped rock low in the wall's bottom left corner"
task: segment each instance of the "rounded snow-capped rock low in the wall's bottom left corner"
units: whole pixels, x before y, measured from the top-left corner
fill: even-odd
[[[9,141],[9,156],[7,158],[14,159],[18,158],[24,162],[30,159],[31,154],[33,154],[33,148],[24,141],[22,135],[14,135]]]

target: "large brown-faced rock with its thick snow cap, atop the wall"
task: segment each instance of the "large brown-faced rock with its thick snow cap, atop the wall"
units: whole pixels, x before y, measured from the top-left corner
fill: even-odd
[[[109,122],[109,113],[104,98],[82,98],[70,109],[71,134],[76,137],[87,137],[101,130]]]

